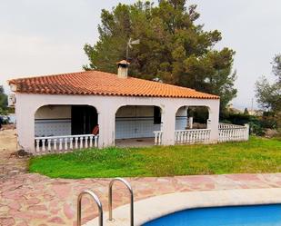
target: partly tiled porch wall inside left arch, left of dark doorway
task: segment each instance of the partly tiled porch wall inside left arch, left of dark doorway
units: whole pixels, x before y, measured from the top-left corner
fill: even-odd
[[[45,105],[35,113],[35,136],[71,135],[71,106]]]

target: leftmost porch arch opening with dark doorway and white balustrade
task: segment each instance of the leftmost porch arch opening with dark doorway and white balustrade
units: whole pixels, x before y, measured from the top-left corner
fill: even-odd
[[[44,105],[35,112],[35,154],[98,146],[98,115],[89,105]]]

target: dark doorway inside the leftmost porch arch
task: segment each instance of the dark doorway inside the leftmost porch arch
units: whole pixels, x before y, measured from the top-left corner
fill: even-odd
[[[87,105],[73,105],[71,108],[72,135],[91,134],[97,124],[95,107]]]

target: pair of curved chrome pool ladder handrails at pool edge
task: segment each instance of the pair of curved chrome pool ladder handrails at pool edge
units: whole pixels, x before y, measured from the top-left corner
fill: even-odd
[[[108,214],[109,214],[109,218],[108,221],[113,221],[113,217],[112,217],[112,188],[113,185],[115,184],[115,182],[122,182],[125,187],[127,188],[127,190],[130,192],[130,226],[134,226],[134,192],[133,189],[131,187],[131,185],[126,182],[123,178],[117,177],[115,179],[113,179],[111,182],[109,182],[109,186],[108,186]],[[102,202],[99,200],[99,198],[97,197],[97,195],[89,190],[85,190],[84,192],[81,192],[78,195],[78,200],[77,200],[77,226],[81,226],[81,207],[82,207],[82,198],[85,194],[88,194],[91,196],[91,198],[95,201],[95,204],[97,205],[98,208],[98,226],[103,226],[104,222],[103,222],[103,205]]]

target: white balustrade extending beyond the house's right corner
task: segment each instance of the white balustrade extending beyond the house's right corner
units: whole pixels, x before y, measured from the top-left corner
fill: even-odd
[[[249,125],[219,123],[218,142],[240,142],[249,139]]]

